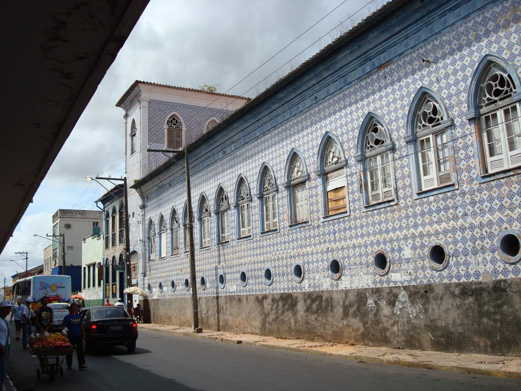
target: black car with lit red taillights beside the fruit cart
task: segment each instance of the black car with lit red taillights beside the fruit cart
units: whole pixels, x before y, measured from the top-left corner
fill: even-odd
[[[126,346],[135,350],[138,323],[122,306],[91,307],[81,313],[85,327],[85,352],[92,353],[100,345]]]

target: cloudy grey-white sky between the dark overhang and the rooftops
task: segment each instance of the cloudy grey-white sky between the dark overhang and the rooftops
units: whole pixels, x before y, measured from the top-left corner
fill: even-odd
[[[105,190],[86,175],[124,174],[123,111],[115,104],[134,80],[194,89],[206,83],[255,97],[382,3],[151,0],[0,254],[7,284],[25,266],[17,251],[29,253],[29,268],[43,263],[51,242],[33,234],[51,234],[56,210],[96,210]]]

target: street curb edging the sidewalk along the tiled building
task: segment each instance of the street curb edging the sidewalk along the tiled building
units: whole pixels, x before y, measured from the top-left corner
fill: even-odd
[[[212,335],[204,335],[204,334],[192,334],[185,333],[176,330],[168,330],[168,329],[160,329],[156,327],[146,327],[140,324],[140,327],[143,329],[147,329],[150,331],[156,331],[160,333],[173,334],[184,337],[191,338],[203,338],[208,340],[226,342],[229,344],[241,344],[244,346],[253,346],[253,347],[261,347],[266,349],[275,349],[275,350],[286,350],[293,351],[298,353],[306,353],[308,355],[315,356],[324,356],[324,357],[332,357],[339,358],[345,360],[352,360],[358,362],[370,362],[375,364],[388,364],[388,365],[400,365],[407,366],[409,368],[418,368],[418,369],[428,369],[434,371],[445,371],[452,373],[462,373],[467,375],[482,375],[482,376],[493,376],[493,377],[504,377],[504,378],[512,378],[512,379],[521,379],[521,372],[511,372],[511,371],[500,371],[493,369],[481,369],[481,368],[472,368],[468,366],[454,366],[454,365],[440,365],[431,362],[418,362],[418,361],[408,361],[408,360],[399,360],[399,359],[382,359],[378,357],[372,356],[361,356],[361,355],[342,355],[340,353],[328,353],[320,350],[314,350],[313,348],[296,348],[291,346],[278,346],[278,345],[270,345],[264,342],[250,342],[243,341],[240,339],[231,339],[225,337],[216,337]]]

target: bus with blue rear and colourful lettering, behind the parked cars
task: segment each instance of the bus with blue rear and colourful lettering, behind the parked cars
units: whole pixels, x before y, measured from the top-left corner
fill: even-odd
[[[70,276],[39,275],[20,278],[13,285],[15,300],[20,298],[25,303],[32,299],[31,308],[39,307],[43,296],[49,297],[49,303],[69,302],[72,295]]]

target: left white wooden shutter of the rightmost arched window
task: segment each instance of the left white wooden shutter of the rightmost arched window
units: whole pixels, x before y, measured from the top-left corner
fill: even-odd
[[[503,131],[499,123],[498,112],[483,116],[481,121],[489,173],[502,170],[506,167]]]

